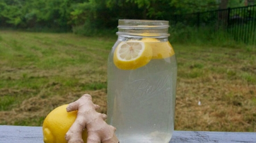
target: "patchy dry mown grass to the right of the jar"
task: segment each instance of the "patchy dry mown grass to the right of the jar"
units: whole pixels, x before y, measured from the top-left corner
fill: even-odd
[[[175,129],[256,132],[255,51],[177,45]]]

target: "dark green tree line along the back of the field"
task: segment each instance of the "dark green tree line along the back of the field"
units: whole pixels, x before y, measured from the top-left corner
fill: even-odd
[[[90,31],[115,28],[118,19],[170,20],[235,5],[244,0],[0,0],[0,27]]]

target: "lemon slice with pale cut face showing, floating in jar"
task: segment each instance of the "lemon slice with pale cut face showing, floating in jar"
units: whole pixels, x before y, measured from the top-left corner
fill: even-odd
[[[129,40],[120,42],[114,51],[114,64],[121,70],[134,70],[145,66],[152,58],[152,49],[144,42]]]

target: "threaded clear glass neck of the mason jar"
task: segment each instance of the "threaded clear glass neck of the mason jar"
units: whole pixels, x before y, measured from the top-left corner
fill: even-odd
[[[167,38],[169,22],[164,20],[118,20],[118,37],[123,38]]]

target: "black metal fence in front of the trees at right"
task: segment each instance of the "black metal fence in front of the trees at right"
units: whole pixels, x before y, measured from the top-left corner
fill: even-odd
[[[226,31],[236,41],[256,45],[256,5],[172,16],[170,24],[177,23]]]

